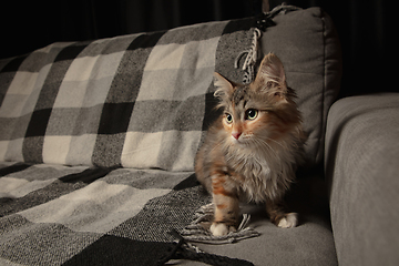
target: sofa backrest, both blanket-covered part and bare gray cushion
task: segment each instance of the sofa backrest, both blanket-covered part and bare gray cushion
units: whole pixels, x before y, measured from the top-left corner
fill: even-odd
[[[340,80],[339,53],[326,48],[338,41],[319,9],[289,10],[275,11],[258,59],[272,51],[285,64],[314,165],[321,160],[325,119]],[[259,44],[255,22],[53,43],[0,61],[0,161],[193,171],[217,115],[213,72],[248,80],[250,68],[243,65]]]

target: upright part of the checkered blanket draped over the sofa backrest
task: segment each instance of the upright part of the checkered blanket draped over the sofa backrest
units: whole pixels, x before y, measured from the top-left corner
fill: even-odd
[[[252,19],[54,43],[0,72],[0,161],[192,171]],[[204,120],[205,117],[205,120]]]

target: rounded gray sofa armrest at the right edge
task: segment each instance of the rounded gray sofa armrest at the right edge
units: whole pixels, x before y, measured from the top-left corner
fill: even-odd
[[[336,102],[325,149],[339,264],[399,265],[399,93]]]

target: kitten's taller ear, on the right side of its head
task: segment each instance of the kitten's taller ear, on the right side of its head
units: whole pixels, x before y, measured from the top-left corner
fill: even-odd
[[[268,53],[260,63],[255,86],[265,93],[285,100],[287,83],[282,61],[274,53]]]

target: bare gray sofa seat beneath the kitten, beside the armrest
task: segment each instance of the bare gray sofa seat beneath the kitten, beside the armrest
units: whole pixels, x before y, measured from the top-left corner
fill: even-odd
[[[283,229],[270,223],[264,206],[244,205],[250,226],[260,233],[229,245],[197,244],[202,250],[238,257],[254,265],[338,265],[323,173],[299,174],[287,195],[287,205],[299,214],[299,225]],[[188,264],[191,265],[191,264]]]

